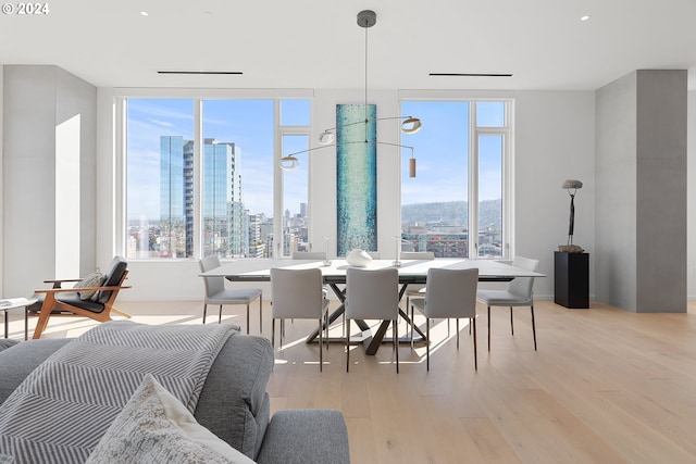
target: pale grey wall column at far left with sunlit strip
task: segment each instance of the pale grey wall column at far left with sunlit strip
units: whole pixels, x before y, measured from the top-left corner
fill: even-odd
[[[3,296],[29,296],[57,271],[94,271],[96,87],[51,65],[3,66]],[[79,150],[79,192],[70,204],[55,202],[57,127],[76,115],[72,150]],[[60,181],[60,179],[58,180]],[[55,220],[79,211],[72,224],[78,253],[60,255]],[[63,230],[65,233],[65,230]],[[71,236],[71,233],[66,233]],[[58,258],[66,262],[58,262]]]

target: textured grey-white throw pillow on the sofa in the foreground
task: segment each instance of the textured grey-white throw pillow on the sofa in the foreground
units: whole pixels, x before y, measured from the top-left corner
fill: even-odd
[[[253,464],[147,374],[89,455],[97,463]]]

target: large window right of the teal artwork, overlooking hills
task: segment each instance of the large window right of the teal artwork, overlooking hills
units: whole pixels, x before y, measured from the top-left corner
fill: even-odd
[[[401,186],[401,249],[438,258],[508,255],[507,101],[405,101],[423,129],[409,135],[418,177]],[[405,159],[407,159],[405,152]],[[408,178],[405,165],[403,178]]]

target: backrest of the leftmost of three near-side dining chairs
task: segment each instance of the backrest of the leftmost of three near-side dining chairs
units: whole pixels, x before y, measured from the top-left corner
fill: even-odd
[[[320,269],[271,268],[271,301],[274,318],[320,318],[323,311]]]

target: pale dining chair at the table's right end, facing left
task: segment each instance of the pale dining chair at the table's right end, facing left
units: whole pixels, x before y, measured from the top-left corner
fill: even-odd
[[[523,256],[515,256],[512,261],[514,267],[526,271],[538,269],[539,261]],[[510,308],[510,333],[514,335],[512,322],[512,308],[530,306],[532,311],[532,336],[534,337],[534,351],[536,351],[536,326],[534,323],[534,277],[515,277],[508,283],[505,290],[478,290],[476,298],[488,308],[488,351],[490,351],[490,308]]]

